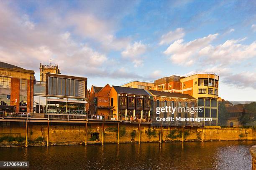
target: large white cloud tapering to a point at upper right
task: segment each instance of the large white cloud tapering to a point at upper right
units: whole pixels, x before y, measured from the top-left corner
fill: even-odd
[[[170,56],[170,60],[179,65],[192,65],[195,62],[197,53],[215,40],[218,34],[210,34],[207,37],[184,42],[183,39],[174,41],[164,54]]]

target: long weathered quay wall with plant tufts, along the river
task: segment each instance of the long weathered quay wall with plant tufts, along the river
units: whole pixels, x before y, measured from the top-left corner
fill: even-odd
[[[140,142],[159,142],[160,126],[140,124]],[[87,142],[92,142],[92,134],[98,135],[98,142],[102,141],[102,123],[87,123]],[[9,125],[0,126],[0,137],[26,136],[24,122],[10,122]],[[50,143],[81,143],[84,141],[85,123],[50,123]],[[104,143],[117,143],[118,123],[104,123]],[[211,126],[205,128],[184,127],[183,140],[256,140],[256,130],[252,128],[220,128]],[[29,122],[28,141],[43,137],[47,140],[47,123]],[[119,143],[138,142],[139,125],[131,123],[119,124]],[[95,140],[93,140],[95,141]],[[182,127],[162,127],[162,141],[182,141]]]

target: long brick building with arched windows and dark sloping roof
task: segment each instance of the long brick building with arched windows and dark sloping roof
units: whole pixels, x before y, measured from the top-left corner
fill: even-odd
[[[153,110],[156,110],[156,107],[197,107],[197,99],[188,95],[174,92],[164,92],[157,90],[148,90],[148,92],[153,96],[154,104]],[[156,116],[156,114],[154,114]],[[154,119],[153,116],[153,119]],[[197,113],[185,112],[185,110],[176,110],[174,114],[170,112],[162,112],[160,117],[197,117]]]

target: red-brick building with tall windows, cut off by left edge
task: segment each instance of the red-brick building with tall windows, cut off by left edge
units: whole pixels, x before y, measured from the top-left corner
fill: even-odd
[[[0,62],[0,111],[33,111],[33,70]]]

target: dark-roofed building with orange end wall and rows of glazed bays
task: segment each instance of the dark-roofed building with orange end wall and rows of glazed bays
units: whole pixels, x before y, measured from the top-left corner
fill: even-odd
[[[150,97],[144,89],[112,86],[109,92],[110,115],[148,118],[151,116]]]

